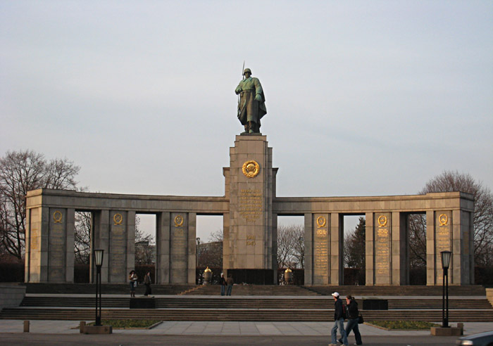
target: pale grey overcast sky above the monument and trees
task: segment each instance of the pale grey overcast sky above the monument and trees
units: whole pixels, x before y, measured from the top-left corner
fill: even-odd
[[[493,1],[0,0],[0,151],[89,191],[223,196],[243,61],[277,196],[493,188]]]

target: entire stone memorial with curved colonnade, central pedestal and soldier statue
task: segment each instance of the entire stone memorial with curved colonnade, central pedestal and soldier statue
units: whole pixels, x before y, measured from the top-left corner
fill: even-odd
[[[277,283],[277,217],[299,215],[305,285],[342,285],[344,215],[359,214],[366,217],[366,285],[407,285],[407,218],[416,213],[426,214],[427,285],[442,284],[442,250],[452,252],[451,285],[474,283],[474,200],[467,193],[277,197],[273,148],[259,131],[265,96],[249,69],[244,76],[235,90],[244,132],[230,148],[230,167],[223,168],[224,196],[30,191],[25,281],[73,282],[75,212],[85,211],[92,212],[92,250],[105,251],[103,283],[125,283],[135,266],[138,213],[156,214],[156,283],[195,283],[196,215],[222,214],[223,269],[235,282]]]

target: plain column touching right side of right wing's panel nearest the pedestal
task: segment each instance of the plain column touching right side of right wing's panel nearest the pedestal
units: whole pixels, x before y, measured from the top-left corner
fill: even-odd
[[[330,230],[329,230],[329,285],[342,285],[344,282],[344,229],[343,215],[337,212],[330,214]]]

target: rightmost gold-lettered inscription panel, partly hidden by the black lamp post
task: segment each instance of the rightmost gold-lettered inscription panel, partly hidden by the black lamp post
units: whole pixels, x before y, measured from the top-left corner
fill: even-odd
[[[437,283],[442,285],[443,283],[443,269],[442,269],[442,251],[451,251],[451,223],[452,213],[450,211],[435,212],[435,268],[437,271]],[[450,268],[452,267],[452,258],[450,259]]]

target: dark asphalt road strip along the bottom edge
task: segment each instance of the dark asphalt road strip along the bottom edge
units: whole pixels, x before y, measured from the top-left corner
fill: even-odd
[[[363,345],[392,346],[446,346],[455,345],[457,337],[437,336],[368,336],[363,335]],[[83,335],[83,334],[33,334],[2,333],[1,345],[29,346],[327,346],[330,342],[326,336],[210,336],[210,335]],[[351,339],[350,339],[351,342]],[[354,342],[354,340],[352,341]],[[351,344],[350,344],[351,345]]]

